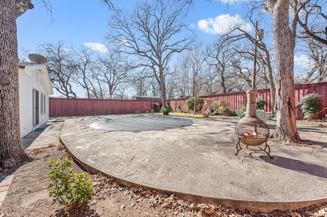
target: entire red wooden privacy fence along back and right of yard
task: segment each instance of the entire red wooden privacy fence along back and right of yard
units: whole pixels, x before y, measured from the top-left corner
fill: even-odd
[[[323,96],[323,100],[319,100],[320,107],[327,107],[327,82],[298,85],[295,86],[295,106],[296,106],[296,118],[303,119],[303,113],[301,105],[298,101],[303,95],[308,93],[318,93]],[[270,89],[264,89],[258,91],[258,96],[262,96],[268,105],[265,106],[265,110],[270,112],[271,100]],[[246,93],[225,93],[209,96],[202,96],[205,99],[212,99],[213,101],[223,100],[228,103],[231,110],[237,110],[243,105],[246,105]],[[186,99],[170,99],[167,100],[172,110],[176,110],[176,105],[180,105],[182,110],[186,109]],[[157,110],[161,107],[161,101],[153,101],[153,103],[159,103]],[[206,110],[207,105],[203,106],[203,111]],[[152,110],[152,100],[121,100],[121,99],[61,99],[50,98],[49,99],[49,116],[82,116],[82,115],[108,115],[108,114],[132,114],[132,113],[146,113]],[[202,111],[202,112],[203,112]],[[190,112],[190,111],[188,111]],[[319,119],[323,118],[326,114],[326,110],[319,114]]]

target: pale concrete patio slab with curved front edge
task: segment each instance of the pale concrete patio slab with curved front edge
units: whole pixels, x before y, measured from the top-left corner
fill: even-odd
[[[123,117],[127,121],[133,116]],[[258,211],[292,210],[327,202],[324,148],[315,156],[307,149],[269,141],[273,159],[248,149],[235,155],[238,120],[154,115],[151,121],[162,117],[194,124],[165,130],[108,131],[91,127],[99,121],[97,117],[73,118],[65,120],[60,139],[91,171],[186,200]],[[115,118],[122,116],[110,116],[110,120]],[[114,122],[120,129],[122,122]],[[307,134],[320,131],[315,127],[302,129]]]

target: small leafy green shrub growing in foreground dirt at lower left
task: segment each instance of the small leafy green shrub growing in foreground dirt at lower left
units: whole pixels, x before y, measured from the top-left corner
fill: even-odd
[[[61,160],[51,160],[54,168],[48,173],[50,184],[46,187],[49,196],[53,197],[53,204],[78,205],[87,201],[93,192],[93,185],[88,180],[88,173],[73,173],[72,160],[63,157]]]

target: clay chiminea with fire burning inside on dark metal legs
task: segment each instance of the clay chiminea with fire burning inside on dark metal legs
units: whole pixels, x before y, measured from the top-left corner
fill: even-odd
[[[259,150],[266,152],[268,156],[272,158],[270,156],[270,147],[267,144],[269,138],[269,127],[264,121],[256,116],[256,93],[258,93],[258,90],[246,91],[246,115],[238,122],[235,128],[235,134],[239,139],[236,145],[236,155],[243,149],[241,143],[246,145],[246,148],[248,146],[260,146],[265,143],[265,148],[262,149],[259,147]]]

